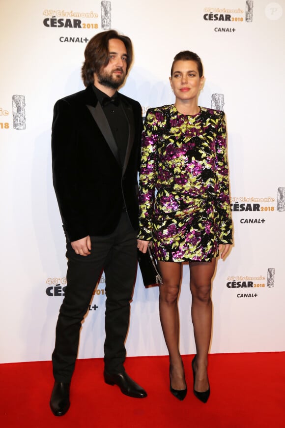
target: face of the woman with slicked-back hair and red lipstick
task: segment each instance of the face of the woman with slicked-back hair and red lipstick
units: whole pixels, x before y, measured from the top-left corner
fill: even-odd
[[[199,77],[196,61],[174,62],[172,76],[169,80],[176,98],[185,101],[197,99],[204,83],[204,77]]]

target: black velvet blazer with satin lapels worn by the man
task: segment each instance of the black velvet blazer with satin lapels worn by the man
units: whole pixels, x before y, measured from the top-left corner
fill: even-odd
[[[53,183],[67,242],[112,233],[125,204],[138,229],[137,172],[142,107],[120,94],[129,122],[123,167],[91,86],[58,100],[52,125]]]

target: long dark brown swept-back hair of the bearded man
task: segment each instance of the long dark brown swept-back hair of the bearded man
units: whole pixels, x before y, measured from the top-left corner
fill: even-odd
[[[94,73],[106,67],[109,58],[109,40],[121,40],[127,50],[127,72],[133,61],[133,46],[131,39],[119,34],[115,30],[103,31],[92,37],[86,45],[84,56],[85,61],[82,66],[82,78],[85,86],[94,83]]]

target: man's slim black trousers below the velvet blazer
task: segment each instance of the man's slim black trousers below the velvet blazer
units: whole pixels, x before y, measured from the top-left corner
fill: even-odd
[[[122,213],[115,231],[91,238],[91,254],[80,256],[67,244],[67,286],[59,309],[56,346],[53,352],[54,377],[70,382],[78,352],[81,322],[88,309],[95,285],[105,272],[105,368],[111,373],[124,370],[124,341],[130,317],[130,300],[137,270],[137,232],[128,214]]]

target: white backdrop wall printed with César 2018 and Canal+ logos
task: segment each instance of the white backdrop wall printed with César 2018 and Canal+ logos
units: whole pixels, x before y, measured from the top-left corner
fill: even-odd
[[[285,351],[285,1],[1,0],[0,362],[49,360],[64,295],[65,240],[51,175],[58,98],[84,89],[86,42],[116,29],[135,61],[121,92],[148,107],[173,102],[174,55],[197,52],[199,104],[223,109],[234,246],[213,281],[211,353]],[[103,356],[105,278],[83,323],[79,358]],[[188,266],[180,348],[195,352]],[[165,355],[158,288],[138,271],[129,356]]]

